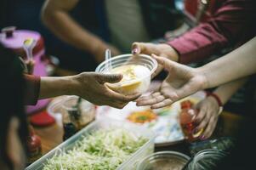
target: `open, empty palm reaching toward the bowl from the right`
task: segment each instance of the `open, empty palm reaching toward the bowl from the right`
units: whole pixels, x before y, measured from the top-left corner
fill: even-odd
[[[137,105],[151,105],[152,109],[161,108],[204,88],[206,78],[200,71],[154,54],[152,56],[169,74],[159,91],[137,99]]]

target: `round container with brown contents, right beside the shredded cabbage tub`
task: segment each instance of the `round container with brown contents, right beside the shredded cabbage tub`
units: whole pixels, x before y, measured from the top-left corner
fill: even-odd
[[[159,151],[140,161],[137,170],[181,170],[189,159],[176,151]]]

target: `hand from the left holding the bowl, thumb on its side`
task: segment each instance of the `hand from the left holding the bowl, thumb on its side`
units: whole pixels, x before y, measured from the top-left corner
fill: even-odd
[[[98,74],[94,72],[84,72],[77,76],[75,94],[87,99],[95,105],[110,105],[122,109],[129,101],[139,98],[140,94],[123,95],[112,91],[105,86],[105,82],[115,83],[122,79],[118,74]]]

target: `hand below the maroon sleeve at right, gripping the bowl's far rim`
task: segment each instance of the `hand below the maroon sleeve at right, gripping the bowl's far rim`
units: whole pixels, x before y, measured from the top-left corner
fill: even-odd
[[[154,43],[145,43],[145,42],[134,42],[132,45],[132,54],[156,54],[158,56],[171,59],[174,61],[179,60],[179,55],[177,52],[165,43],[154,44]],[[152,74],[152,77],[156,77],[162,71],[162,65],[158,65],[156,71]]]

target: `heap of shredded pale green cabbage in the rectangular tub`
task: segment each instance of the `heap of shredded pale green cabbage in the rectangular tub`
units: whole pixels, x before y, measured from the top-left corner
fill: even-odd
[[[112,170],[148,139],[122,128],[101,129],[83,137],[72,150],[47,161],[43,170]]]

